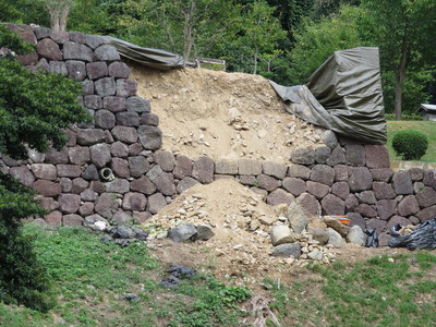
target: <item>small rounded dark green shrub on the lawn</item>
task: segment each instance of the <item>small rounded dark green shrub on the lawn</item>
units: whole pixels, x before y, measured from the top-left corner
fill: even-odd
[[[428,137],[416,130],[403,130],[393,136],[392,147],[403,160],[419,160],[428,148]]]

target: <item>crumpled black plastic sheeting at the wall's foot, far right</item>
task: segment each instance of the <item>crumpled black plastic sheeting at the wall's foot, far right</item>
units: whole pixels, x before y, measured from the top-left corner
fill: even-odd
[[[401,235],[398,231],[402,228],[397,223],[390,229],[390,247],[436,249],[436,218],[424,221],[417,229],[407,235]]]

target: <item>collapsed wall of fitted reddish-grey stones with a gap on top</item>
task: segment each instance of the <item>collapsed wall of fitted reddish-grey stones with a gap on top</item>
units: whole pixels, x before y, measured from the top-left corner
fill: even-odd
[[[41,194],[51,211],[44,217],[47,223],[81,225],[101,217],[142,222],[192,185],[222,178],[264,194],[269,204],[296,201],[313,214],[347,214],[363,229],[376,228],[382,239],[395,223],[436,217],[436,170],[393,172],[385,146],[338,141],[331,131],[323,135],[326,146],[296,148],[289,166],[274,158],[192,160],[159,150],[159,119],[136,96],[130,69],[112,46],[81,33],[13,28],[37,45],[37,53],[20,58],[23,64],[81,81],[81,100],[95,117],[92,124],[66,131],[70,141],[62,152],[31,152],[27,162],[0,159],[2,170]]]

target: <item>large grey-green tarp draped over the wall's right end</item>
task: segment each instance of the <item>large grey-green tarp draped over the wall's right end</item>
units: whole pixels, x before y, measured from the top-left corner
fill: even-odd
[[[270,83],[299,118],[364,143],[386,143],[378,48],[336,51],[306,85]]]

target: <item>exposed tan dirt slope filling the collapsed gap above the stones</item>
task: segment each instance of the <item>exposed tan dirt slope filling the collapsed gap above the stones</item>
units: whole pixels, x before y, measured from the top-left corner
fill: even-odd
[[[322,145],[324,130],[288,113],[259,75],[133,64],[131,78],[159,116],[162,148],[175,155],[288,164],[293,147]]]

